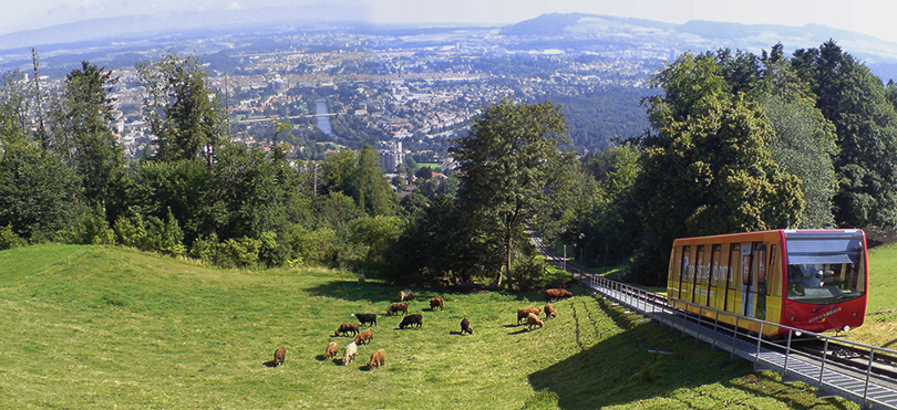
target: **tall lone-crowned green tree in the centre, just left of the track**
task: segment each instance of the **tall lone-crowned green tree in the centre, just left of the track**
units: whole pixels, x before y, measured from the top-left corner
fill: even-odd
[[[511,274],[515,238],[548,204],[550,176],[563,158],[558,146],[567,141],[559,109],[550,102],[503,101],[475,117],[471,133],[451,149],[462,176],[458,200],[471,210],[472,223],[502,243],[499,286]]]

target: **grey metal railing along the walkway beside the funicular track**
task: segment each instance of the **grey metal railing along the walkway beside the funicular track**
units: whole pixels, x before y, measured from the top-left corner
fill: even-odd
[[[897,351],[881,347],[837,338],[841,345],[867,353],[865,370],[847,368],[834,361],[828,350],[832,336],[801,330],[772,322],[753,317],[740,316],[713,307],[702,306],[684,301],[677,301],[685,309],[671,306],[666,296],[659,296],[648,291],[609,280],[574,266],[568,266],[574,278],[589,290],[616,301],[621,305],[639,312],[646,317],[657,320],[672,329],[693,336],[695,341],[705,341],[711,348],[719,348],[754,362],[755,368],[775,370],[782,374],[783,381],[798,380],[818,389],[817,396],[836,395],[852,400],[863,408],[897,409],[897,380],[886,378],[873,372],[873,362],[876,354],[897,356]],[[688,312],[698,314],[689,314]],[[720,316],[734,318],[734,326],[724,326]],[[744,330],[744,325],[751,323],[759,328],[757,333]],[[770,326],[785,329],[784,345],[764,338],[763,330]],[[752,326],[753,327],[753,326]],[[804,335],[823,340],[824,347],[818,356],[792,349],[794,336]]]

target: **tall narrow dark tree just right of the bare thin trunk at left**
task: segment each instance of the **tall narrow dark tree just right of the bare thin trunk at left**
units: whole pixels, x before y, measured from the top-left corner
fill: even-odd
[[[54,129],[56,140],[66,141],[62,147],[68,149],[61,154],[81,175],[87,200],[102,206],[104,212],[107,202],[116,204],[109,212],[113,220],[124,212],[121,189],[126,178],[124,150],[109,126],[114,102],[109,94],[116,82],[112,72],[82,62],[81,70],[65,77],[62,107],[56,112],[60,127]]]

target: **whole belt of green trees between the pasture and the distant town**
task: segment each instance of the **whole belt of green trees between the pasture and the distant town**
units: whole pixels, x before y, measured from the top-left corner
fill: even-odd
[[[657,284],[676,238],[897,222],[897,86],[835,41],[792,55],[782,44],[683,53],[650,80],[646,129],[607,118],[600,133],[619,137],[586,155],[571,140],[599,132],[568,122],[563,96],[502,101],[450,141],[456,169],[417,172],[401,198],[404,182],[384,177],[370,146],[291,161],[285,146],[230,143],[193,57],[137,71],[156,137],[138,160],[110,128],[110,71],[83,62],[56,98],[3,74],[0,249],[114,244],[220,266],[525,290],[546,280],[530,232]],[[578,105],[574,116],[617,114]]]

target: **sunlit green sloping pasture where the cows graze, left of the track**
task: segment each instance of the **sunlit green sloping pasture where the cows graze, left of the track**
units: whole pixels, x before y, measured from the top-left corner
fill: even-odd
[[[575,290],[544,328],[537,294],[415,288],[420,329],[381,316],[355,361],[322,360],[353,312],[401,287],[327,270],[218,270],[107,246],[0,252],[0,408],[856,408]],[[445,298],[444,312],[426,301]],[[425,309],[426,308],[426,309]],[[473,336],[461,336],[468,317]],[[268,368],[287,348],[283,366]],[[368,371],[371,353],[385,366]],[[670,351],[672,355],[649,350]]]

